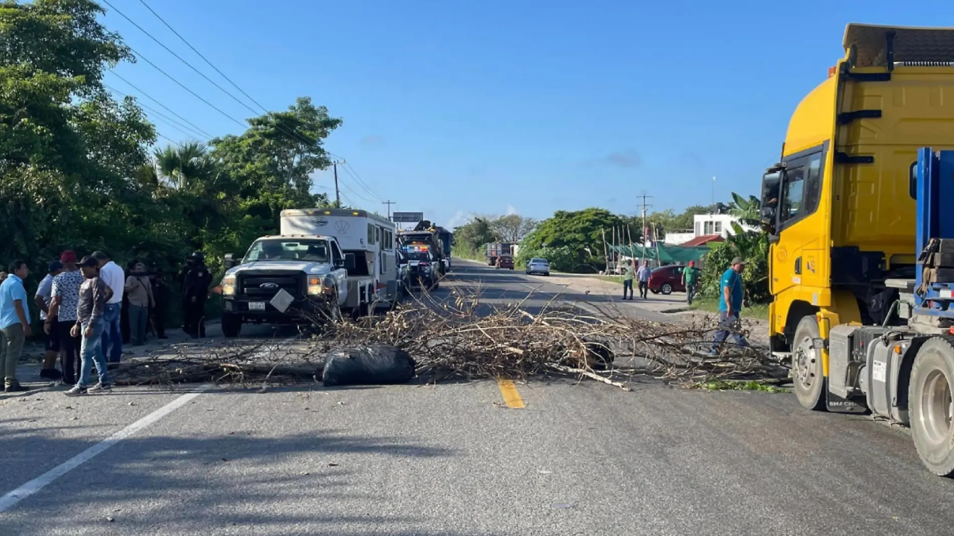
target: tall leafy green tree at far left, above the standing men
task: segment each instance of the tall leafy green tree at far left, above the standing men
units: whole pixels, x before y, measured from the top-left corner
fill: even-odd
[[[105,66],[132,60],[102,13],[88,0],[0,1],[0,258],[142,237],[124,220],[140,198],[129,177],[156,133],[135,100],[102,87]]]

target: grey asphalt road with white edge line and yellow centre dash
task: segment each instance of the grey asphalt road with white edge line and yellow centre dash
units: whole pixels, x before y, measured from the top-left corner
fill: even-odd
[[[461,263],[452,279],[438,292],[479,283],[503,302],[534,287],[529,306],[561,292],[546,278]],[[495,381],[5,399],[0,535],[947,535],[954,526],[954,482],[923,470],[904,431],[866,417],[811,413],[788,394],[655,382],[516,390],[522,409],[504,404]]]

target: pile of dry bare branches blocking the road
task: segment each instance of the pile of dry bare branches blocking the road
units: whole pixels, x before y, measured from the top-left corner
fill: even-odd
[[[716,326],[657,323],[614,306],[553,298],[493,305],[479,288],[426,292],[384,315],[330,323],[307,318],[297,341],[188,346],[175,356],[124,365],[122,382],[321,380],[324,355],[334,349],[389,344],[404,348],[425,381],[571,375],[628,389],[635,376],[669,381],[752,380],[786,372],[765,349],[727,349],[707,356]],[[308,339],[307,341],[303,340]]]

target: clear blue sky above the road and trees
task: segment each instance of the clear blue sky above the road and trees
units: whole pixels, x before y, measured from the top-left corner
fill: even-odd
[[[954,10],[893,0],[146,1],[266,108],[309,95],[342,117],[326,148],[370,190],[340,171],[346,201],[384,212],[391,199],[446,225],[590,206],[635,214],[643,193],[651,210],[681,210],[710,203],[713,176],[716,200],[755,194],[798,101],[841,57],[848,22],[932,26]],[[110,3],[231,89],[138,0]],[[224,112],[252,115],[117,13],[105,21]],[[242,130],[146,62],[117,72],[207,133]],[[151,116],[160,134],[189,137]],[[330,173],[315,178],[333,190]]]

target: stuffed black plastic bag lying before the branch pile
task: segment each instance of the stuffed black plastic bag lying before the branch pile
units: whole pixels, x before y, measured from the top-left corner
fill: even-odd
[[[384,385],[414,378],[417,363],[397,346],[375,344],[328,352],[321,381],[325,385]]]

